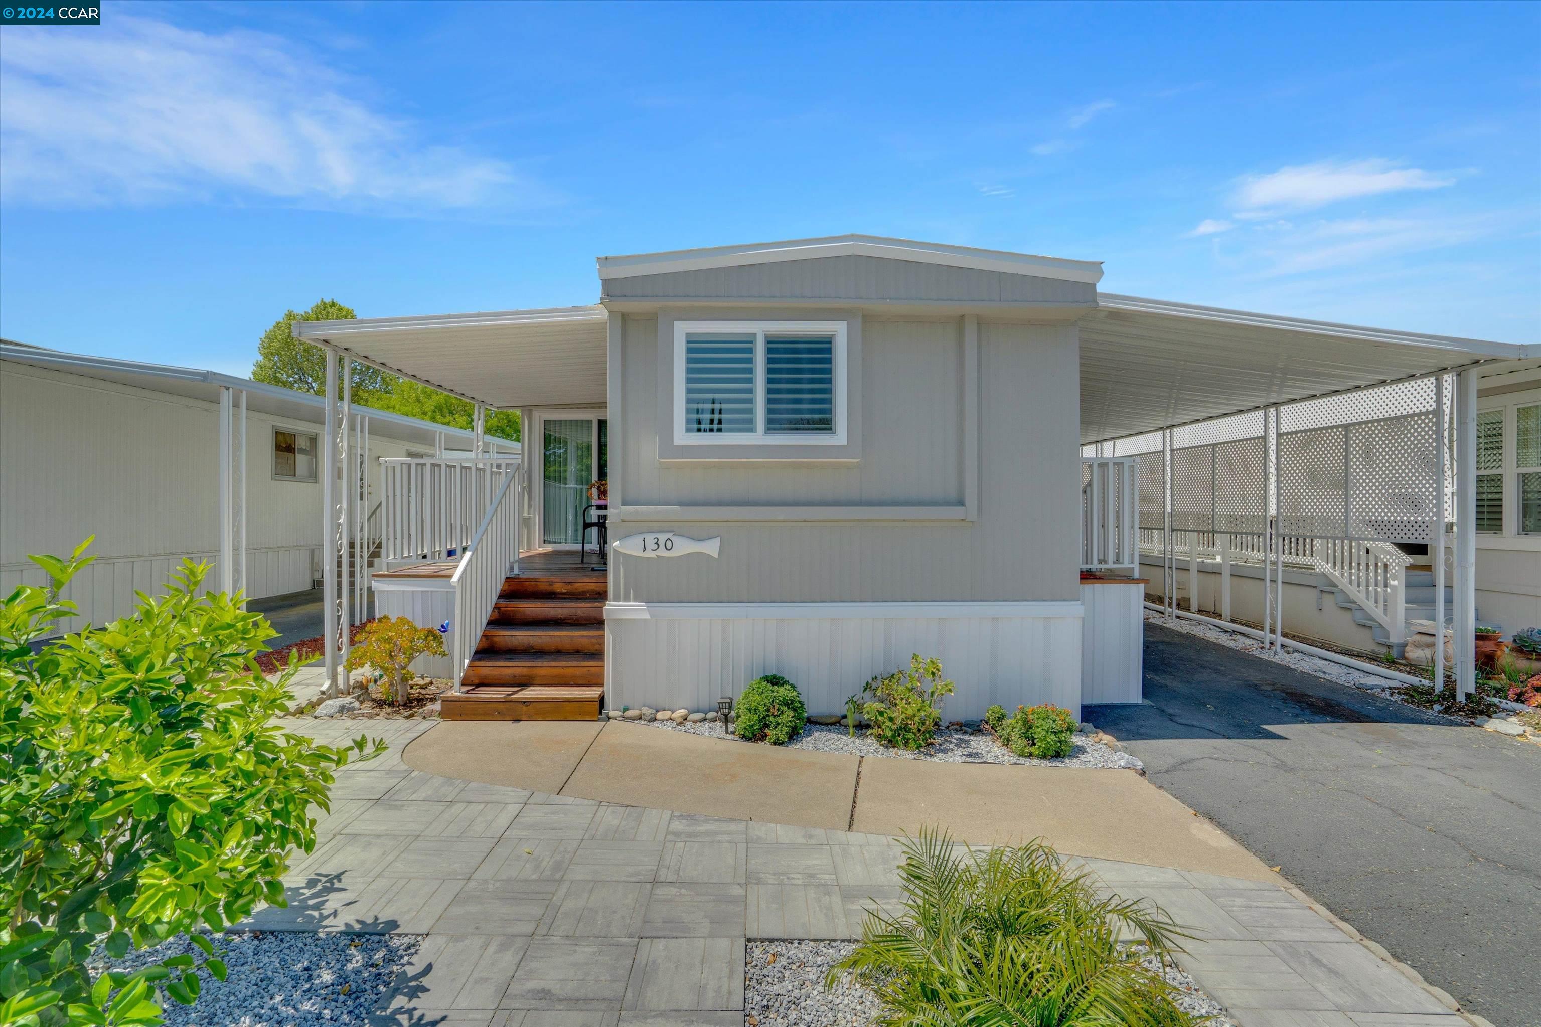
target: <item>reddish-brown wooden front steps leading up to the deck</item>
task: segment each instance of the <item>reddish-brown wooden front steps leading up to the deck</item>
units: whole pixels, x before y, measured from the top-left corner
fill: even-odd
[[[519,557],[445,721],[593,721],[604,702],[606,574],[576,553]]]

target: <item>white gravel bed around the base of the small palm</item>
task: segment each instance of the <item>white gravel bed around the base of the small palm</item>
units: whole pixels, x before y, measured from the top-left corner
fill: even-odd
[[[883,1009],[872,992],[851,978],[824,990],[824,975],[855,947],[854,941],[750,941],[744,947],[746,1027],[868,1027]],[[1187,973],[1160,967],[1154,956],[1142,962],[1182,992],[1177,1005],[1185,1013],[1213,1016],[1208,1027],[1236,1027]]]

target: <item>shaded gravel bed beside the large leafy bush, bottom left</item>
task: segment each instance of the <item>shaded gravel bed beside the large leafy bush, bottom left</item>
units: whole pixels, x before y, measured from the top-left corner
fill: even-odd
[[[213,942],[230,975],[222,984],[200,973],[203,990],[193,1005],[166,998],[170,1027],[362,1027],[378,1022],[381,998],[398,973],[407,970],[422,935],[253,932],[216,935]],[[131,952],[112,965],[137,970],[185,952],[202,958],[185,938],[176,938]]]

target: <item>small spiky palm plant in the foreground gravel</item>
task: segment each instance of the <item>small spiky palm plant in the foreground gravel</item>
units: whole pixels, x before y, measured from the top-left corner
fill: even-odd
[[[848,972],[883,1002],[883,1027],[1190,1027],[1180,992],[1142,965],[1190,938],[1140,901],[1099,898],[1049,847],[955,853],[923,830],[905,839],[895,916],[874,912]],[[1143,952],[1120,939],[1143,942]]]

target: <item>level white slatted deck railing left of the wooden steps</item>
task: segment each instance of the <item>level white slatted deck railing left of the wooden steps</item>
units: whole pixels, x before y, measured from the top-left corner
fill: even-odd
[[[381,460],[381,559],[387,568],[459,556],[518,459]]]

